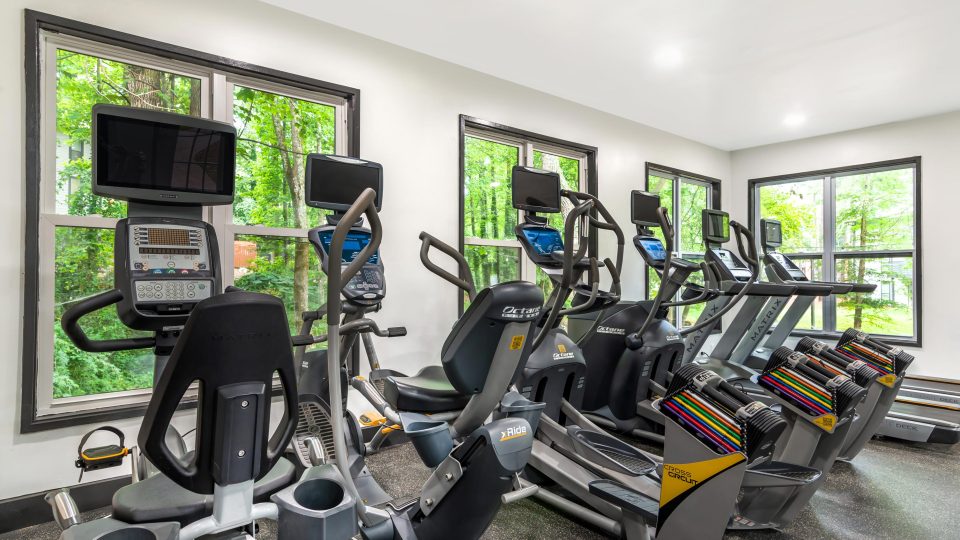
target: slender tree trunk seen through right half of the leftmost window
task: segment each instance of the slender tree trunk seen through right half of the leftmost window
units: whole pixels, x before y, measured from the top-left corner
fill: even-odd
[[[290,191],[290,203],[293,214],[293,227],[304,229],[307,223],[307,204],[304,193],[303,182],[303,143],[300,138],[300,128],[297,124],[299,120],[299,111],[297,104],[290,98],[284,99],[290,110],[290,139],[287,144],[286,129],[282,119],[273,115],[273,129],[277,137],[277,144],[285,147],[288,151],[281,152],[283,162],[283,178]],[[296,251],[293,259],[293,309],[299,316],[309,307],[309,272],[310,272],[310,244],[306,241],[297,240]]]

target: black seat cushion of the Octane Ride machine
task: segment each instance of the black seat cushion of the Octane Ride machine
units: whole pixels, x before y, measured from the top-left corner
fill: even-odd
[[[398,411],[422,413],[456,411],[470,401],[453,387],[443,366],[427,366],[412,377],[387,377],[383,397]]]

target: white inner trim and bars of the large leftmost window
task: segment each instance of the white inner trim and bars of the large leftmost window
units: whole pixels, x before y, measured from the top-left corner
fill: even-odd
[[[42,31],[40,35],[40,218],[39,218],[39,296],[37,305],[37,375],[36,416],[50,418],[60,414],[108,409],[144,404],[152,389],[128,390],[53,398],[54,369],[54,320],[56,228],[87,227],[113,230],[116,218],[102,216],[72,216],[58,214],[56,209],[56,51],[67,49],[79,54],[96,56],[105,60],[136,64],[167,73],[200,80],[200,116],[228,123],[233,122],[233,85],[242,84],[257,90],[282,94],[295,99],[314,101],[335,107],[336,153],[346,154],[348,148],[346,100],[340,97],[288,87],[276,83],[226,74],[214,69],[167,58],[141,53],[85,40],[55,32]],[[53,164],[53,166],[51,166]],[[308,229],[235,225],[232,223],[232,205],[213,206],[204,209],[204,216],[211,223],[220,242],[221,265],[224,268],[223,285],[233,284],[233,242],[236,235],[306,238]],[[188,393],[187,397],[191,397]]]

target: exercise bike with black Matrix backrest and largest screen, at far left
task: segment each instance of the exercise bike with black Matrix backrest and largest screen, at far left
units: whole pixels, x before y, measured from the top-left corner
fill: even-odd
[[[220,294],[216,235],[200,218],[202,205],[232,201],[233,127],[106,105],[94,107],[92,126],[93,191],[129,201],[128,217],[116,226],[116,288],[81,300],[61,324],[85,351],[154,348],[156,384],[138,443],[143,462],[157,472],[143,474],[135,455],[134,483],[114,495],[112,516],[88,523],[60,511],[75,508],[66,492],[52,494],[55,518],[66,526],[62,538],[248,538],[254,520],[262,518],[280,521],[281,538],[324,528],[353,534],[335,523],[335,516],[352,511],[349,501],[321,497],[326,507],[319,514],[307,508],[315,505],[301,504],[318,490],[336,493],[337,479],[327,473],[329,480],[304,485],[282,457],[297,423],[282,303],[256,293]],[[154,336],[88,338],[81,318],[113,305],[124,324]],[[270,436],[275,376],[284,415]],[[193,390],[198,380],[202,384]],[[194,391],[196,444],[186,452],[170,436],[170,424],[181,400]],[[125,450],[112,463],[119,464]],[[109,457],[104,454],[81,460],[93,457],[99,467]]]

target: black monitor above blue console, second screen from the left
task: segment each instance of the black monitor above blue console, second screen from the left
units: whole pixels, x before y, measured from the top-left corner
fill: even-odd
[[[377,193],[376,205],[383,203],[383,167],[362,159],[310,154],[307,156],[307,205],[346,212],[366,188]]]

